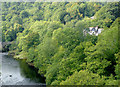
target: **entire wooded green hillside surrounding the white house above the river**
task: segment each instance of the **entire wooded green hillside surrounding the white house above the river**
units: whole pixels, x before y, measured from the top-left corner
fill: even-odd
[[[25,58],[47,85],[118,85],[118,2],[4,2],[4,51]],[[94,16],[94,19],[91,17]],[[83,30],[98,26],[98,36]]]

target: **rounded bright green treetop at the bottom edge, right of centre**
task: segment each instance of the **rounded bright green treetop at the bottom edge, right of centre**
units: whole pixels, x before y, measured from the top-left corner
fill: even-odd
[[[100,77],[98,74],[94,74],[87,70],[81,70],[75,72],[69,76],[65,81],[62,81],[60,85],[104,85],[104,77]]]

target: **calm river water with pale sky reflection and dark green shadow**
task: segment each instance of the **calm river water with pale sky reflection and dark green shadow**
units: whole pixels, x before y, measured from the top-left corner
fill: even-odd
[[[0,53],[2,59],[2,85],[44,85],[45,78],[37,69],[26,64],[25,60],[16,60],[7,53]]]

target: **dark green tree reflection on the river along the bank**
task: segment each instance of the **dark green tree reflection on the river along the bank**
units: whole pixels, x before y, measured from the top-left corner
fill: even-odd
[[[19,60],[21,75],[30,78],[30,80],[40,83],[45,83],[45,78],[38,74],[38,70],[33,66],[29,66],[25,60]]]

